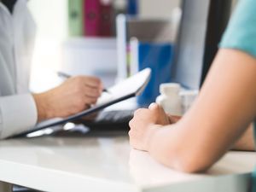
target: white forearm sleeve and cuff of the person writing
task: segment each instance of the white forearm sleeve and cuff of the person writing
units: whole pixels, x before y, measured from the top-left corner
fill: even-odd
[[[6,138],[32,129],[38,111],[31,94],[0,97],[0,137]]]

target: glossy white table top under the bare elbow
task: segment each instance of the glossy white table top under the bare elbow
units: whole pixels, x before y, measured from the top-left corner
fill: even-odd
[[[256,153],[230,152],[204,174],[161,166],[127,137],[0,142],[0,181],[43,191],[247,191]]]

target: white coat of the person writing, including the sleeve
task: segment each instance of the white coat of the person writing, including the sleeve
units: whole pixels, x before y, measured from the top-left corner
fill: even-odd
[[[26,0],[13,13],[0,1],[0,138],[31,129],[37,108],[28,84],[35,24]]]

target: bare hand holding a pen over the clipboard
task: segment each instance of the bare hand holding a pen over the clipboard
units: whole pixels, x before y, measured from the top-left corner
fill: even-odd
[[[78,76],[67,79],[55,89],[41,94],[34,94],[38,108],[38,122],[56,117],[65,118],[79,113],[91,104],[95,104],[102,94],[100,79]]]

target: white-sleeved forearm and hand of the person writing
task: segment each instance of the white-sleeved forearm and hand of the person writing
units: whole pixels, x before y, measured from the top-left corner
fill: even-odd
[[[78,76],[44,93],[0,96],[0,138],[32,129],[45,119],[79,113],[96,103],[101,93],[100,79]]]

